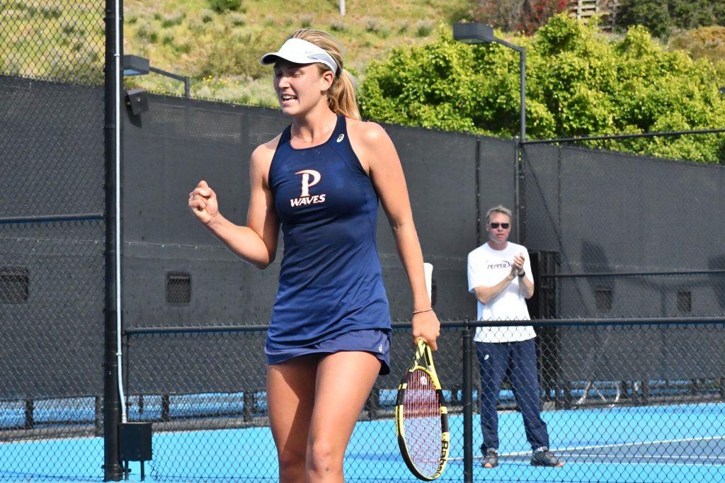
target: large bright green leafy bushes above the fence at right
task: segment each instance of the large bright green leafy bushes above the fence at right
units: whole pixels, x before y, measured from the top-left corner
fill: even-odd
[[[711,62],[666,51],[642,27],[617,41],[560,14],[526,46],[527,131],[532,138],[689,130],[725,125],[723,82]],[[368,67],[364,117],[494,136],[518,133],[518,53],[466,45],[442,30],[433,44],[398,48]],[[595,144],[668,157],[725,162],[725,136]]]

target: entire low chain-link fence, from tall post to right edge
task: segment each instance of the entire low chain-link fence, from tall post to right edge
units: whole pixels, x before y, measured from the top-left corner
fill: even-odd
[[[676,322],[534,321],[533,341],[497,344],[476,335],[468,397],[466,322],[444,323],[435,359],[451,453],[442,481],[718,481],[725,476],[725,324]],[[481,334],[495,326],[503,336],[521,324],[468,323],[484,327]],[[153,479],[277,480],[264,339],[263,327],[129,331],[128,411],[133,421],[153,421]],[[412,353],[410,332],[395,330],[392,373],[378,378],[360,413],[347,481],[415,481],[393,421],[397,382]],[[535,455],[542,445],[550,453]],[[496,465],[486,468],[490,449]],[[547,467],[551,457],[563,466]]]

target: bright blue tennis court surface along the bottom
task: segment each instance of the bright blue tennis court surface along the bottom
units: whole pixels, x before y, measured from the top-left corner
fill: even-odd
[[[663,405],[544,412],[552,449],[563,468],[529,465],[521,416],[500,414],[500,466],[474,466],[476,481],[522,482],[722,482],[725,481],[725,405]],[[441,481],[463,480],[463,417],[451,417],[452,449]],[[474,445],[480,444],[474,417]],[[676,434],[676,437],[673,435]],[[391,448],[392,419],[360,421],[346,457],[348,481],[415,481]],[[362,450],[361,450],[362,449]],[[40,466],[30,455],[42,452]],[[474,454],[480,456],[476,448]],[[60,458],[62,456],[62,458]],[[100,481],[101,438],[0,443],[0,480]],[[146,481],[276,481],[276,453],[269,429],[156,432]],[[36,463],[38,465],[38,463]],[[132,481],[139,465],[132,463]],[[83,475],[98,475],[96,479]],[[265,475],[266,477],[263,477]]]

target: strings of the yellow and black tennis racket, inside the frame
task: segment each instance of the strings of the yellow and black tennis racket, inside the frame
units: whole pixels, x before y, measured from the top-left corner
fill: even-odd
[[[426,371],[418,369],[408,376],[403,408],[410,459],[421,473],[433,475],[441,455],[441,410],[436,388]]]

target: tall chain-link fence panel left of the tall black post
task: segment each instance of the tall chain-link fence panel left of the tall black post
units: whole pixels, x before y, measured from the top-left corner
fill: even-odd
[[[0,1],[0,479],[100,474],[103,57],[103,1]]]

